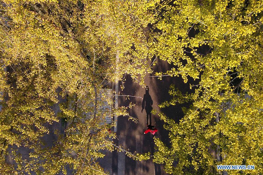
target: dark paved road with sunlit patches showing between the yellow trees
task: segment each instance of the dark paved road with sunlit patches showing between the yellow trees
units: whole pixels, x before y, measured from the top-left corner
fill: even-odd
[[[154,66],[154,71],[166,71],[172,66],[165,61],[157,60],[157,65]],[[152,74],[153,75],[153,74]],[[171,97],[168,94],[169,86],[175,84],[183,93],[186,91],[191,91],[189,89],[189,84],[184,84],[181,77],[164,77],[162,80],[158,80],[157,77],[151,77],[148,74],[145,77],[145,83],[149,86],[149,94],[153,100],[153,109],[157,112],[164,112],[167,116],[173,118],[175,121],[179,121],[183,117],[183,112],[180,105],[176,107],[166,107],[165,109],[160,109],[159,104],[165,100],[169,100]],[[192,83],[192,81],[191,81]],[[125,88],[121,91],[121,95],[130,95],[143,97],[145,94],[145,88],[142,88],[139,84],[133,83],[132,79],[127,76],[126,82],[124,84]],[[128,104],[136,103],[136,106],[129,110],[131,116],[138,119],[138,123],[129,121],[128,117],[119,116],[118,118],[118,141],[116,144],[121,144],[129,149],[131,152],[154,153],[154,141],[153,135],[150,133],[143,134],[146,127],[146,112],[145,110],[141,112],[142,98],[130,98],[126,97],[119,98],[119,106],[128,106]],[[185,104],[184,104],[185,106]],[[152,115],[152,125],[158,128],[158,132],[154,135],[159,137],[167,146],[169,146],[168,131],[163,128],[164,122],[159,119],[157,115]],[[152,160],[147,161],[135,161],[128,158],[124,153],[112,154],[112,174],[113,175],[164,175],[164,166],[159,164],[154,164]]]

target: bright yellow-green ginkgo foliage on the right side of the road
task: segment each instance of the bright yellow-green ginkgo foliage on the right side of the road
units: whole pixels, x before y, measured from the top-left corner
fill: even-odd
[[[228,174],[263,172],[262,11],[256,0],[177,0],[163,8],[156,52],[174,68],[155,74],[198,80],[190,94],[172,85],[172,99],[159,105],[191,103],[179,123],[159,114],[171,147],[156,138],[154,162],[168,174],[222,173],[216,165],[255,165]]]

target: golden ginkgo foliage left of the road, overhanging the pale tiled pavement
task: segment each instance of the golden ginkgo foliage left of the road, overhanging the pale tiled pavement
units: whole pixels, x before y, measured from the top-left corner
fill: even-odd
[[[1,3],[1,174],[105,174],[96,161],[104,156],[101,150],[125,150],[112,142],[112,125],[100,125],[105,114],[99,99],[112,104],[100,92],[106,81],[125,73],[143,84],[153,56],[147,26],[158,19],[158,3]],[[67,100],[61,103],[60,98]],[[55,115],[58,104],[61,113]],[[127,115],[126,109],[111,115]],[[83,112],[92,113],[85,122]],[[60,118],[68,122],[65,135],[55,133],[53,146],[45,146],[48,124]],[[27,158],[20,147],[30,152]]]

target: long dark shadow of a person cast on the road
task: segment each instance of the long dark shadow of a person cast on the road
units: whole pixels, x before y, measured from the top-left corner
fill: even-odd
[[[146,116],[147,116],[147,126],[148,126],[148,119],[150,119],[150,125],[152,125],[152,98],[149,94],[149,87],[146,86],[145,88],[145,94],[143,96],[142,100],[142,111],[145,109],[146,111]]]

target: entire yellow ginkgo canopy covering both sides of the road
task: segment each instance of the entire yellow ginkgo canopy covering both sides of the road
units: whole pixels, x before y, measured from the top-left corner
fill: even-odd
[[[155,73],[160,79],[198,83],[186,94],[172,85],[172,99],[159,105],[191,103],[179,123],[159,114],[171,147],[156,138],[153,161],[168,174],[219,174],[216,165],[255,165],[228,174],[262,173],[262,11],[261,0],[1,2],[0,174],[105,174],[101,150],[123,149],[112,142],[113,125],[100,124],[99,99],[112,104],[104,84],[129,74],[143,86],[155,56],[173,65]],[[83,112],[92,114],[85,122]],[[61,118],[66,133],[44,146],[48,126]]]

